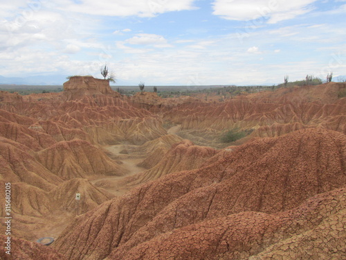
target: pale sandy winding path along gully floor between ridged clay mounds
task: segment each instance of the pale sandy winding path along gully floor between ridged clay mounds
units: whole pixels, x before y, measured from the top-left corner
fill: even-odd
[[[97,179],[90,180],[90,182],[95,187],[102,188],[115,196],[122,196],[129,191],[129,187],[125,187],[122,180],[124,180],[125,177],[129,177],[146,170],[145,168],[137,166],[138,163],[143,161],[143,158],[138,158],[138,156],[134,155],[121,154],[120,151],[123,150],[122,144],[115,146],[104,146],[104,148],[112,153],[115,157],[119,158],[118,161],[122,162],[122,167],[125,168],[128,173],[123,176],[98,177]]]

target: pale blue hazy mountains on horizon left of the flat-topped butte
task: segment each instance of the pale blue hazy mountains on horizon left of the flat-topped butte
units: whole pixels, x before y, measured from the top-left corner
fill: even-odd
[[[28,76],[28,77],[4,77],[0,76],[0,84],[15,85],[62,85],[66,82],[66,75],[50,75],[50,76]]]

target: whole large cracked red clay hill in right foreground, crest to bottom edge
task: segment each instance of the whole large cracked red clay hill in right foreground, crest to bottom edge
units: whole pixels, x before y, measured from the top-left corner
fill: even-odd
[[[345,144],[316,129],[254,139],[104,202],[53,248],[67,259],[345,259]]]

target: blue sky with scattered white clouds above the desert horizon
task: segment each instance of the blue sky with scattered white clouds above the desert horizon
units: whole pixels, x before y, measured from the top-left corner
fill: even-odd
[[[1,0],[0,75],[119,85],[346,76],[346,0]]]

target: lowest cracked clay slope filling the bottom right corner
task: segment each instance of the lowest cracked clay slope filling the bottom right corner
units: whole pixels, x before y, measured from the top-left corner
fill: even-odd
[[[345,208],[346,189],[336,189],[278,214],[242,212],[174,229],[107,259],[345,259]]]

